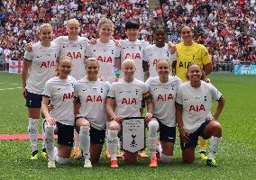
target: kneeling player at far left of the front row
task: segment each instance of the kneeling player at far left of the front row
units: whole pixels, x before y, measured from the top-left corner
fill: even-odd
[[[69,76],[72,60],[69,57],[59,58],[56,76],[46,82],[42,96],[41,112],[45,116],[45,143],[49,161],[48,167],[69,162],[74,137],[74,84],[76,79]],[[53,105],[49,112],[48,103]],[[58,156],[54,150],[54,133],[58,135]]]

